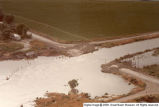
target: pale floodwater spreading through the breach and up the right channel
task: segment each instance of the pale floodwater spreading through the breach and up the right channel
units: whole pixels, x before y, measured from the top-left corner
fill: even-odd
[[[159,47],[159,38],[113,48],[103,48],[78,57],[38,57],[34,60],[0,62],[0,107],[30,107],[46,91],[68,93],[68,81],[77,79],[80,92],[91,97],[105,93],[122,95],[134,88],[120,76],[101,72],[101,65],[121,56]],[[5,78],[9,77],[9,80]]]

